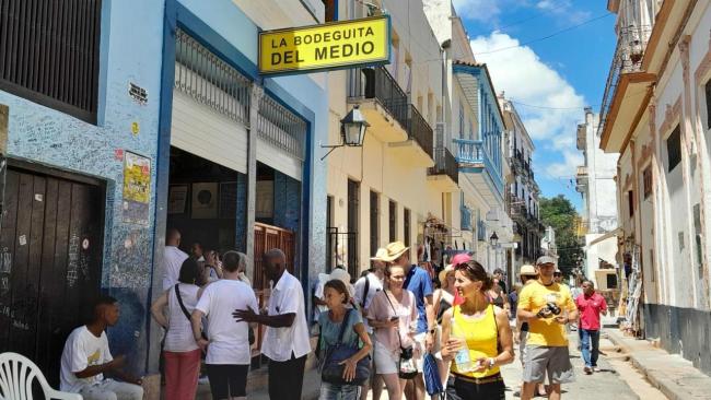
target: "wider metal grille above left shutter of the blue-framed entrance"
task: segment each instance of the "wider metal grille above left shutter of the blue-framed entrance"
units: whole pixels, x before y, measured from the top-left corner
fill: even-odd
[[[175,37],[174,87],[248,127],[249,80],[187,33],[177,30]]]

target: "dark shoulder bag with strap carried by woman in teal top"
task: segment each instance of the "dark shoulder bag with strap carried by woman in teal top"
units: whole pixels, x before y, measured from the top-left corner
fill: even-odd
[[[348,328],[348,320],[352,310],[352,308],[349,308],[346,311],[343,321],[340,325],[340,331],[338,332],[338,341],[336,344],[329,345],[326,350],[326,356],[324,357],[320,368],[320,379],[331,385],[362,386],[371,376],[370,356],[366,355],[358,361],[356,365],[356,377],[353,380],[347,381],[343,379],[343,369],[346,366],[340,363],[350,358],[353,354],[360,351],[358,348],[358,340],[356,340],[356,343],[352,345],[343,343],[343,333]],[[320,340],[323,340],[323,338]]]

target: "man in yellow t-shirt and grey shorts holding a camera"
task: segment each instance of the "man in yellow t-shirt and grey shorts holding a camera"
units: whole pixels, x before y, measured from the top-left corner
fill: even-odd
[[[544,256],[536,261],[538,280],[521,291],[518,319],[528,322],[523,370],[522,400],[534,396],[537,384],[550,381],[549,399],[560,399],[560,386],[574,380],[568,353],[566,325],[578,320],[570,289],[553,281],[556,260]]]

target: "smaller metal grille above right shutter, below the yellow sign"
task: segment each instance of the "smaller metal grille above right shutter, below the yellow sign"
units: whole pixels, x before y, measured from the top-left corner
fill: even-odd
[[[266,94],[259,103],[257,132],[265,141],[304,160],[306,122]]]

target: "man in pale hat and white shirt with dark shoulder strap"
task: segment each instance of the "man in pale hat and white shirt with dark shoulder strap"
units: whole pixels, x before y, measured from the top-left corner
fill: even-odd
[[[375,252],[375,257],[371,258],[371,261],[373,261],[373,268],[365,274],[365,277],[361,277],[358,281],[356,281],[354,284],[356,293],[353,295],[353,299],[363,314],[363,325],[365,325],[365,329],[368,331],[368,334],[371,336],[371,340],[373,340],[373,328],[368,325],[368,308],[371,306],[371,302],[373,301],[373,297],[375,297],[375,294],[383,290],[383,281],[385,280],[385,261],[383,261],[383,257],[386,256],[387,250],[382,247],[378,248],[377,252]],[[373,357],[371,354],[371,360],[372,358]],[[374,363],[373,367],[375,367]],[[373,399],[380,399],[381,393],[383,392],[382,376],[373,372],[371,374],[371,379],[372,383],[365,383],[363,386],[361,386],[361,400],[365,400],[368,398],[368,391],[371,387],[370,384],[372,384],[373,388]]]

